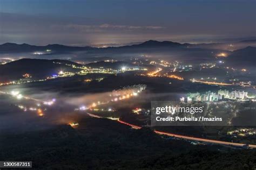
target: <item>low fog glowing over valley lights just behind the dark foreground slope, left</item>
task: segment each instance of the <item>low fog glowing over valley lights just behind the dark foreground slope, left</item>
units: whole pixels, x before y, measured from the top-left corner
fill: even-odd
[[[65,93],[39,91],[36,88],[15,86],[1,87],[0,91],[9,94],[0,94],[0,132],[15,131],[24,132],[29,130],[40,130],[51,128],[58,124],[69,124],[76,122],[80,118],[87,116],[87,108],[95,107],[108,109],[120,109],[131,107],[133,104],[147,103],[156,98],[179,98],[180,94],[152,94],[149,91],[142,91],[137,96],[127,97],[124,90],[122,95],[110,96],[112,91],[96,94]],[[18,91],[23,97],[12,95],[13,91]],[[29,93],[28,93],[29,92]],[[29,95],[28,95],[29,94]],[[25,99],[24,97],[30,97]],[[121,97],[122,99],[120,100]],[[127,101],[129,100],[129,102]],[[136,100],[136,101],[134,101]],[[109,103],[107,103],[109,102]]]

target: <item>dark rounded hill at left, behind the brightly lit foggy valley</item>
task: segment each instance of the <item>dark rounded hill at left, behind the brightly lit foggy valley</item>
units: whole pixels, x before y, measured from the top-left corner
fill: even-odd
[[[21,59],[0,65],[0,82],[23,79],[28,73],[33,79],[45,79],[47,76],[63,72],[77,72],[79,69],[68,65],[81,66],[67,60]]]

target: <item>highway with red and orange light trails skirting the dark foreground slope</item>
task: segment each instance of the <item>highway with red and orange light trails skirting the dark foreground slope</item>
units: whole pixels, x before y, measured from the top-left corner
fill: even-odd
[[[91,116],[91,117],[96,117],[96,118],[104,118],[104,117],[100,117],[100,116],[93,115],[93,114],[88,114],[88,115]],[[124,121],[120,121],[120,119],[118,119],[117,121],[119,123],[130,126],[133,129],[141,129],[142,128],[141,126],[137,126],[137,125],[133,125],[133,124],[130,124],[130,123],[127,123],[127,122],[124,122]],[[212,144],[229,145],[229,146],[244,146],[245,145],[245,144],[240,144],[240,143],[232,143],[232,142],[228,142],[228,141],[212,140],[212,139],[204,139],[204,138],[184,136],[184,135],[180,135],[180,134],[168,133],[168,132],[163,132],[163,131],[158,131],[158,130],[154,130],[154,132],[157,133],[157,134],[163,134],[163,135],[170,136],[170,137],[193,140],[193,141],[203,141],[203,142],[212,143]],[[248,145],[248,147],[256,148],[256,145]]]

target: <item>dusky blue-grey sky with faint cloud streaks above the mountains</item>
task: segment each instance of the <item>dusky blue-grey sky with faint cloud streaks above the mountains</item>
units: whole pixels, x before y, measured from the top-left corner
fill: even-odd
[[[252,0],[0,0],[0,44],[254,38],[255,6]]]

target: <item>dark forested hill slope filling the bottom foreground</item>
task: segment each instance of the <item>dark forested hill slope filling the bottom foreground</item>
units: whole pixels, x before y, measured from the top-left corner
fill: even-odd
[[[41,131],[1,134],[0,160],[32,161],[33,169],[255,169],[255,150],[191,145],[134,130],[108,119],[85,118]],[[220,150],[218,150],[220,148]],[[224,151],[226,150],[226,151]]]

